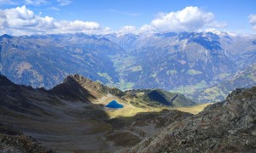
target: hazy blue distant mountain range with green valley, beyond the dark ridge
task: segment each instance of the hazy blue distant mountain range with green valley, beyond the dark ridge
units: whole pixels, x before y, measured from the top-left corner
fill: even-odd
[[[79,73],[122,90],[161,88],[199,101],[196,91],[218,86],[256,61],[255,36],[227,33],[3,35],[0,42],[0,73],[15,83],[49,89]]]

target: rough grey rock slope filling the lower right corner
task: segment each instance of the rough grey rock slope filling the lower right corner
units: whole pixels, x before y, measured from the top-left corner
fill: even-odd
[[[236,89],[200,114],[121,152],[255,152],[256,87]]]

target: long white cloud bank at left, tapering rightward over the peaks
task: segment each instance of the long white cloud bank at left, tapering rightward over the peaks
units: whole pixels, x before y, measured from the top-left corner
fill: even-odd
[[[0,10],[0,32],[11,35],[52,34],[52,33],[107,33],[109,28],[81,20],[55,20],[52,17],[34,14],[26,6]]]

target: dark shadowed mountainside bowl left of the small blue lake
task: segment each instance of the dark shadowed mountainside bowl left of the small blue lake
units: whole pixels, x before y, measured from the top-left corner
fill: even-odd
[[[64,84],[47,91],[16,85],[6,77],[0,82],[0,122],[53,150],[112,150],[100,139],[112,130],[108,115],[102,105],[90,103],[95,97],[79,83],[72,82],[75,88]]]

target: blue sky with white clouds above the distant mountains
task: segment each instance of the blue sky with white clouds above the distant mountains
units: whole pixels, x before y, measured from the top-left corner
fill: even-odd
[[[0,34],[256,33],[255,0],[0,0]]]

